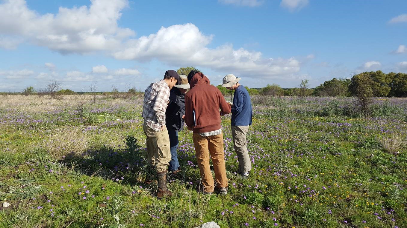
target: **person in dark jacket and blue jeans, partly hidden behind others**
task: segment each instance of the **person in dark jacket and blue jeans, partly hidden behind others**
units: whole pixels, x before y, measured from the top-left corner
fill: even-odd
[[[166,111],[166,127],[170,138],[171,161],[168,167],[170,174],[180,171],[178,162],[178,131],[184,128],[185,116],[185,92],[189,89],[186,75],[179,75],[179,85],[175,85],[170,91],[170,103]]]

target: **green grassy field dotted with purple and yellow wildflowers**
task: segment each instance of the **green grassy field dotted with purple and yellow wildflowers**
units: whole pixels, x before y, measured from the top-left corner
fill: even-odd
[[[227,196],[204,196],[191,132],[182,179],[143,185],[142,98],[0,97],[0,227],[407,227],[407,99],[252,97],[250,178],[236,177],[222,117]]]

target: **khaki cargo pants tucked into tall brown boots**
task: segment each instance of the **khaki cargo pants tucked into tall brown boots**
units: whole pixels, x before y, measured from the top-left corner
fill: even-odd
[[[147,125],[143,124],[143,131],[147,137],[147,159],[149,165],[154,166],[157,172],[167,170],[171,161],[170,138],[168,137],[167,128],[164,131],[155,131]]]

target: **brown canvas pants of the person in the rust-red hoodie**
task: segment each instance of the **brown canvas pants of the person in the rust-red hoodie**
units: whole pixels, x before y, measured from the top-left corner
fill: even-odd
[[[201,173],[201,182],[204,185],[204,191],[213,192],[214,181],[210,171],[209,155],[212,158],[213,169],[217,187],[228,187],[226,178],[225,153],[223,150],[223,133],[216,136],[200,136],[199,133],[193,133],[192,140],[197,155],[199,172]]]

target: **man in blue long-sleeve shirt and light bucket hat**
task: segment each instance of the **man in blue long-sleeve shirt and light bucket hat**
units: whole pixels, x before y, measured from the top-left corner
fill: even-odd
[[[232,137],[233,147],[239,160],[238,173],[242,178],[249,177],[252,170],[249,152],[247,151],[246,134],[249,126],[252,125],[252,101],[246,88],[239,84],[241,78],[236,78],[233,74],[223,77],[222,86],[229,90],[234,90],[232,106]]]

